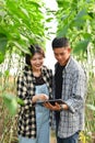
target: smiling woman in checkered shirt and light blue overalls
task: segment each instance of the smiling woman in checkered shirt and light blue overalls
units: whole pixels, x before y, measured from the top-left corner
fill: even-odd
[[[44,66],[45,53],[31,45],[23,73],[17,78],[17,96],[24,101],[19,111],[20,143],[49,143],[49,110],[37,101],[50,99],[52,73]]]

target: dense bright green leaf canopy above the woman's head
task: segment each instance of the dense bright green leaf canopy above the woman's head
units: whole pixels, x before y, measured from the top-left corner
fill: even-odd
[[[27,53],[29,44],[44,43],[43,6],[40,0],[0,0],[0,63],[7,51]]]

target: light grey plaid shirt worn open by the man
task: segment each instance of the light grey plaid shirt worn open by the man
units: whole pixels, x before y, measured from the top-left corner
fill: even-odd
[[[69,110],[60,111],[58,136],[63,139],[84,128],[86,75],[80,64],[70,57],[62,70],[62,78],[61,98],[69,107]]]

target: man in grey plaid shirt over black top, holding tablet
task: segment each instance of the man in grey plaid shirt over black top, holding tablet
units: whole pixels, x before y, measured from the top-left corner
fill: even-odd
[[[61,98],[64,103],[45,106],[55,111],[57,143],[78,143],[79,132],[84,127],[86,76],[81,65],[71,56],[67,37],[56,37],[52,50],[57,59],[55,99]]]

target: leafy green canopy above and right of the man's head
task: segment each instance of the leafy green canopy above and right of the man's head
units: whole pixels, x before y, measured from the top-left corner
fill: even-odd
[[[73,53],[79,58],[87,56],[88,43],[95,53],[95,1],[94,0],[57,0],[58,3],[58,36],[68,36],[72,43]]]

